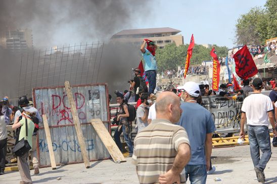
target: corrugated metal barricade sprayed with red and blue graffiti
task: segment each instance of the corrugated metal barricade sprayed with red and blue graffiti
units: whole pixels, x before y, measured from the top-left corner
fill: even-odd
[[[89,160],[108,159],[108,150],[98,137],[91,118],[100,118],[110,131],[108,87],[106,84],[71,86]],[[82,162],[82,154],[73,123],[70,104],[65,88],[33,89],[34,106],[48,118],[52,145],[57,165]],[[40,166],[50,166],[48,144],[43,127],[40,127],[37,141]]]

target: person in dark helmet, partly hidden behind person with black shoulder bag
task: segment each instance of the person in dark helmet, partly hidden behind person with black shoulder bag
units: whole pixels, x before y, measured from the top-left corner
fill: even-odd
[[[20,97],[18,99],[18,105],[20,105],[20,107],[23,108],[27,112],[30,112],[30,113],[35,112],[35,117],[38,120],[38,124],[42,123],[42,118],[41,118],[38,110],[29,103],[29,100],[28,100],[27,96]],[[20,110],[16,111],[14,120],[16,120],[18,116],[21,116]],[[37,122],[34,122],[34,123],[36,124]],[[32,136],[32,144],[33,145],[32,145],[32,149],[30,151],[31,152],[31,157],[32,157],[32,162],[33,162],[33,167],[34,167],[34,174],[39,173],[37,153],[36,153],[36,140],[37,140],[36,131],[37,130],[38,130],[38,127],[35,127],[35,131],[34,131],[33,136]]]

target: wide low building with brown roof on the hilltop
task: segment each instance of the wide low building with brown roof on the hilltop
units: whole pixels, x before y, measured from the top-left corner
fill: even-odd
[[[143,39],[149,39],[159,47],[163,48],[168,43],[175,43],[177,46],[183,44],[183,36],[180,30],[166,28],[149,29],[125,29],[111,38],[112,42],[142,44]]]

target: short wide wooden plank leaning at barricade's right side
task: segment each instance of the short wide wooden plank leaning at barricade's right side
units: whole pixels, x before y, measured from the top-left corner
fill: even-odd
[[[100,137],[101,141],[109,151],[110,155],[112,156],[113,160],[116,163],[126,162],[123,154],[115,144],[113,138],[111,137],[110,133],[107,131],[106,127],[104,126],[101,119],[91,119],[91,125],[93,125],[95,131],[97,132],[98,136]]]

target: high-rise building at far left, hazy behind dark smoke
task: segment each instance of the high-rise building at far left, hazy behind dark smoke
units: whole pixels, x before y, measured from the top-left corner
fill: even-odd
[[[32,30],[19,29],[6,31],[6,47],[14,52],[25,52],[33,48]]]

